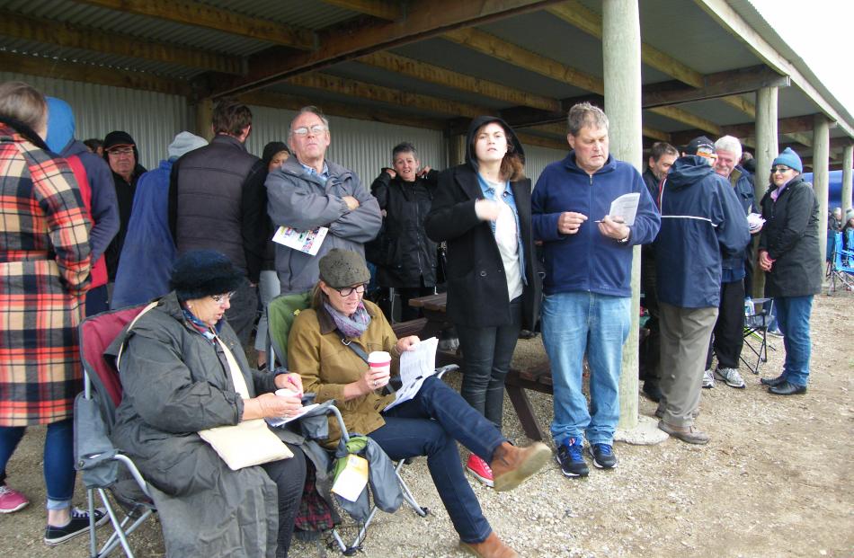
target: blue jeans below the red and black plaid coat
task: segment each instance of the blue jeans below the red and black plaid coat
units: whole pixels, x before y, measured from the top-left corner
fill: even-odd
[[[6,480],[6,464],[23,438],[23,426],[0,426],[0,484]],[[44,440],[44,481],[48,509],[65,509],[74,495],[74,420],[51,422]]]

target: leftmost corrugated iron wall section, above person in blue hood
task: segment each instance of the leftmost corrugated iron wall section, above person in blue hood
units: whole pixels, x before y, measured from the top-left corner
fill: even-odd
[[[191,129],[187,102],[178,95],[0,72],[0,81],[12,80],[70,104],[77,139],[103,138],[112,130],[125,130],[137,142],[139,163],[148,169],[165,159],[166,147],[178,132]]]

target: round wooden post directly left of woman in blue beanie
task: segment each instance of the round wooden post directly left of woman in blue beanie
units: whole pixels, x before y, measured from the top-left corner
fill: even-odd
[[[753,194],[759,203],[768,190],[771,161],[777,153],[777,87],[762,87],[756,92],[756,176],[753,177]],[[754,250],[758,239],[753,239]],[[753,296],[765,292],[765,273],[754,261]]]

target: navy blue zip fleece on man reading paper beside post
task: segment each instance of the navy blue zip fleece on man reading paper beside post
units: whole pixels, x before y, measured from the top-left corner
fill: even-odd
[[[602,235],[594,222],[608,214],[623,194],[640,193],[635,224],[626,244]],[[588,217],[578,233],[561,235],[557,219],[564,211]],[[612,297],[631,297],[632,246],[653,242],[661,219],[640,173],[611,155],[593,175],[575,164],[573,151],[549,164],[531,195],[534,237],[543,241],[547,295],[588,291]]]

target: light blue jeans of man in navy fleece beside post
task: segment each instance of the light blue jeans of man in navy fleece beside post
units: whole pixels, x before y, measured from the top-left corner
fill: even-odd
[[[612,444],[619,420],[623,343],[631,326],[631,298],[586,291],[543,299],[543,344],[552,368],[555,443],[565,438]],[[582,393],[584,354],[590,365],[590,412]]]

